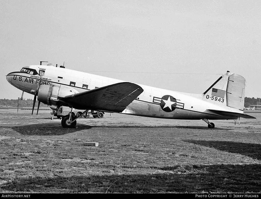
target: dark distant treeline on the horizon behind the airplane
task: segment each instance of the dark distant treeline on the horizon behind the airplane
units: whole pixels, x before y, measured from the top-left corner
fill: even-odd
[[[9,99],[0,99],[0,105],[1,106],[15,106],[17,107],[17,101],[18,100],[9,100]],[[245,107],[248,108],[250,107],[250,105],[257,105],[260,102],[260,98],[247,98],[245,97]],[[36,100],[36,105],[38,104],[38,101]],[[41,103],[41,105],[44,105],[43,103]],[[27,100],[19,100],[19,106],[33,106],[33,100],[32,99],[27,99]]]

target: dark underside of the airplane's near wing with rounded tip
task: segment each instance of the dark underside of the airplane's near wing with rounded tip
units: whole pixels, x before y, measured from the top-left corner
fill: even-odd
[[[137,84],[121,82],[67,95],[60,100],[77,109],[122,112],[142,92],[143,89]]]

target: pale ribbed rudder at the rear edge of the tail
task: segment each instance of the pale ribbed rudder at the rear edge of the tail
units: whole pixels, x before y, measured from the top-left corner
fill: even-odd
[[[240,110],[244,109],[245,82],[246,79],[238,74],[233,74],[228,77],[226,90],[227,106]]]

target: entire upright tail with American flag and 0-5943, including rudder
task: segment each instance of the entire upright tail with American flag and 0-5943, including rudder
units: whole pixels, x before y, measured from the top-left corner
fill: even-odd
[[[245,82],[241,75],[227,71],[203,93],[203,100],[243,110]]]

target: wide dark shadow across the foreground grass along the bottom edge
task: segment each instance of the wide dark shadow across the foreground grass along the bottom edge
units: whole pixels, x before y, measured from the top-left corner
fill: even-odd
[[[155,168],[157,173],[25,177],[2,191],[36,193],[258,193],[261,165],[200,165]],[[165,172],[163,172],[163,171]]]

